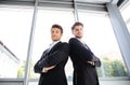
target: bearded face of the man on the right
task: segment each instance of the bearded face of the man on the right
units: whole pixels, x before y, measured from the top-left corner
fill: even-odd
[[[75,28],[73,29],[73,34],[76,38],[82,38],[83,36],[83,27],[82,26],[75,26]]]

